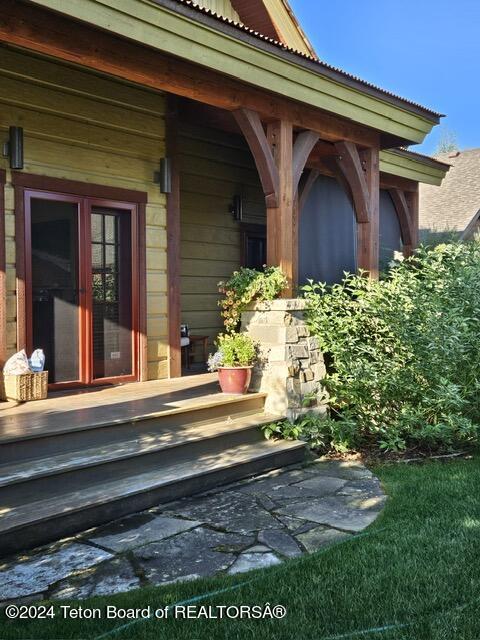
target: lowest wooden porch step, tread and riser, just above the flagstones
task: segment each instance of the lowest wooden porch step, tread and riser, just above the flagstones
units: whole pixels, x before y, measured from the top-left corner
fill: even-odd
[[[256,441],[231,448],[205,451],[195,460],[178,459],[158,468],[98,482],[88,471],[85,485],[72,489],[64,482],[48,497],[17,506],[4,506],[0,517],[2,554],[43,544],[259,472],[304,459],[300,442]],[[68,489],[66,489],[68,487]]]

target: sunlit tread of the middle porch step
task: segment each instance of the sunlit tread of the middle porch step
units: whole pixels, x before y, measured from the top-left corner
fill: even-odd
[[[200,441],[207,441],[222,436],[233,436],[246,430],[258,428],[278,420],[280,416],[266,413],[254,413],[245,417],[227,420],[219,420],[208,424],[194,423],[176,428],[174,430],[163,427],[158,431],[149,430],[137,433],[134,437],[128,437],[118,442],[107,442],[104,445],[95,445],[81,449],[73,449],[66,453],[59,453],[45,457],[37,457],[23,462],[0,465],[0,488],[22,482],[31,482],[39,478],[45,478],[73,471],[79,471],[88,467],[97,467],[108,463],[126,459],[139,458],[162,450],[182,447]],[[150,421],[148,421],[150,422]],[[135,461],[135,464],[141,462]]]

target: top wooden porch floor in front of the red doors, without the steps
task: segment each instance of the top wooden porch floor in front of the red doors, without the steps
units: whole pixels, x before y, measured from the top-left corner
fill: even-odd
[[[207,408],[222,395],[215,373],[171,380],[53,392],[36,402],[0,402],[0,442],[64,433],[85,426],[132,422],[194,406]],[[235,396],[223,396],[225,401]]]

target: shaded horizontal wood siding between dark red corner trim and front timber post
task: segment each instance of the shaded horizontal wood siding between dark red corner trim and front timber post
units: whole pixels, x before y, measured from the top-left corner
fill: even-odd
[[[244,221],[265,224],[265,198],[240,136],[182,124],[179,136],[182,323],[209,336],[222,330],[219,280],[240,266],[240,224],[229,212],[242,194]]]

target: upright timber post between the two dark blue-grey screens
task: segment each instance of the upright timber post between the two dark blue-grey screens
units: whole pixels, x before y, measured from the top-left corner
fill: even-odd
[[[366,149],[361,153],[365,167],[368,193],[368,222],[357,224],[357,266],[378,278],[380,240],[380,157],[379,149]]]

